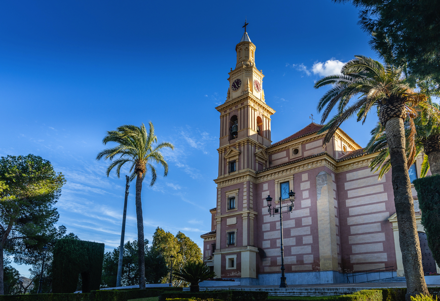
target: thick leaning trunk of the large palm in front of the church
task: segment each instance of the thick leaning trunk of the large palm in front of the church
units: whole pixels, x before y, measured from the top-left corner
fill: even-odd
[[[406,301],[410,296],[429,294],[423,276],[422,254],[417,235],[414,203],[411,193],[405,154],[403,119],[392,118],[385,124],[392,167],[394,204],[399,226],[399,243],[402,251],[403,271],[406,278]]]

